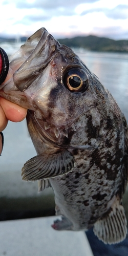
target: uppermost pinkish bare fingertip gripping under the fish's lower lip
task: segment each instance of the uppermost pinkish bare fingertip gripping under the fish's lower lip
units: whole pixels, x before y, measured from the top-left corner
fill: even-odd
[[[27,109],[23,109],[22,107],[1,98],[1,106],[4,110],[6,118],[12,122],[20,122],[27,115]]]

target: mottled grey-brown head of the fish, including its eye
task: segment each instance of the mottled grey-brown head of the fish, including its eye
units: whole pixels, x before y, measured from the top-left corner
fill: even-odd
[[[40,133],[58,145],[87,144],[88,134],[81,131],[95,111],[98,78],[45,28],[28,38],[12,57],[10,67],[15,70],[17,63],[13,90],[15,87],[18,104],[34,111]]]

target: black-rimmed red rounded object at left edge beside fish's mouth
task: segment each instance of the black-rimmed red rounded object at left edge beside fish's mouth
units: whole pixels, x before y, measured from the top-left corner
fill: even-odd
[[[9,60],[7,53],[0,47],[0,84],[2,84],[9,70]]]

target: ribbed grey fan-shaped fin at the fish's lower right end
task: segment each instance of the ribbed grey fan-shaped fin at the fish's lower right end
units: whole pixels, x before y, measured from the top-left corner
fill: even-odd
[[[98,220],[94,224],[94,233],[105,244],[115,244],[123,241],[126,237],[126,217],[124,208],[116,202],[106,218]]]

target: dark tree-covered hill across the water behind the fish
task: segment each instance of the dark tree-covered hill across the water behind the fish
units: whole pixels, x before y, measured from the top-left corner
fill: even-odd
[[[83,48],[90,51],[127,52],[128,40],[113,40],[94,35],[76,36],[73,38],[58,39],[60,44],[68,47]]]

